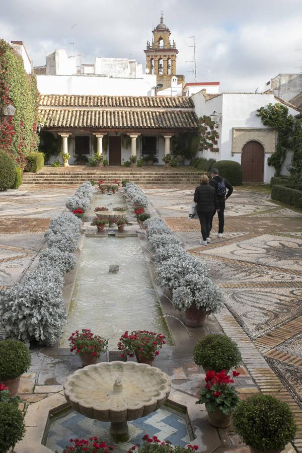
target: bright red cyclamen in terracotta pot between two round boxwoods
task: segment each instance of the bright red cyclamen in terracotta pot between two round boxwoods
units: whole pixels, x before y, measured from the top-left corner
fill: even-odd
[[[238,375],[237,371],[233,371],[233,376]],[[232,386],[234,379],[222,369],[219,373],[209,370],[204,380],[206,385],[200,389],[196,404],[205,405],[212,426],[227,428],[232,423],[232,413],[240,401]]]

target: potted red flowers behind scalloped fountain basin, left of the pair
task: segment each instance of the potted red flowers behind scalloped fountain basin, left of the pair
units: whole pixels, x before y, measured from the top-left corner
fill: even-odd
[[[93,365],[98,362],[102,352],[108,348],[108,340],[99,335],[94,335],[90,329],[76,330],[68,338],[70,352],[80,355],[83,366]]]

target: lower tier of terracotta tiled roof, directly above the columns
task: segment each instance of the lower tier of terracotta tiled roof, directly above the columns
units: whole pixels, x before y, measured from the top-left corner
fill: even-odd
[[[193,110],[40,109],[44,127],[102,129],[197,129]]]

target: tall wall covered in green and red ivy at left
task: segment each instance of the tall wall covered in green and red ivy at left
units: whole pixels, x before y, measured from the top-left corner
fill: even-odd
[[[0,40],[0,149],[24,169],[26,156],[38,149],[38,90],[35,75],[27,74],[13,47]],[[4,116],[5,105],[16,107],[14,116]]]

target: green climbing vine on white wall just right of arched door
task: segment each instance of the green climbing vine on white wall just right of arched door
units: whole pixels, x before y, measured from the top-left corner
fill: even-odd
[[[283,104],[268,104],[257,110],[257,116],[265,126],[277,129],[277,144],[275,152],[267,160],[268,165],[275,168],[275,176],[281,174],[282,164],[285,161],[287,150],[291,149],[291,132],[293,129],[293,116],[288,115],[288,108]]]

